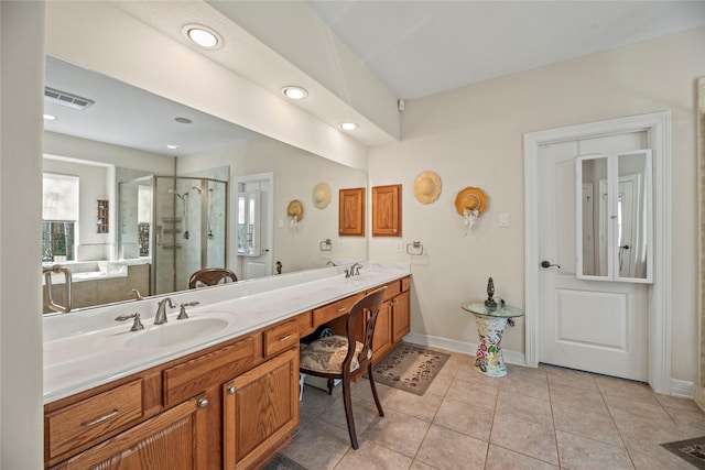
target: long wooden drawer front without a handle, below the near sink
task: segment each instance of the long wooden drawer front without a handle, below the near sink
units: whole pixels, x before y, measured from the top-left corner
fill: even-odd
[[[213,383],[225,382],[254,362],[252,337],[164,370],[164,405],[196,396]]]

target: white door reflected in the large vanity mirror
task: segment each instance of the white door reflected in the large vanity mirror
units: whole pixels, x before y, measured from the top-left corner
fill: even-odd
[[[238,278],[272,274],[272,174],[236,178]]]

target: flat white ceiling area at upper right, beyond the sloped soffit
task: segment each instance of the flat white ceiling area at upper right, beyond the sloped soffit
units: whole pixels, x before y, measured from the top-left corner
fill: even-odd
[[[705,25],[705,1],[306,3],[404,99]]]

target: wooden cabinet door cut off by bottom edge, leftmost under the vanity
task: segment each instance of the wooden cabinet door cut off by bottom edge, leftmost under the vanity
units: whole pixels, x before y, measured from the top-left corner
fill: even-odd
[[[53,469],[206,470],[206,407],[192,398]]]

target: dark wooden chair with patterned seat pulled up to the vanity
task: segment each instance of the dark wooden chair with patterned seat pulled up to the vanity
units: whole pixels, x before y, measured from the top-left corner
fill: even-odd
[[[347,337],[334,335],[326,336],[310,345],[301,345],[300,371],[307,375],[328,379],[328,382],[340,379],[343,381],[343,402],[345,405],[345,418],[348,423],[348,433],[354,449],[359,448],[357,434],[355,433],[355,419],[352,418],[352,402],[350,400],[350,381],[357,381],[367,373],[372,389],[372,396],[380,416],[384,416],[382,405],[377,396],[375,376],[372,374],[372,336],[377,324],[377,314],[384,297],[387,287],[381,287],[362,297],[350,308],[347,315]],[[365,337],[362,342],[357,341],[355,332],[360,316],[365,320]],[[367,316],[367,317],[366,317]],[[355,348],[348,348],[355,345]]]

